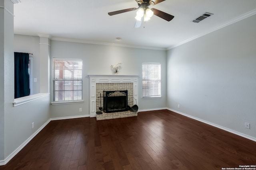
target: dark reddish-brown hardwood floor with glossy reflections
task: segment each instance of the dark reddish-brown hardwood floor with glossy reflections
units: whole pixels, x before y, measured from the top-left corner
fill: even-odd
[[[256,164],[256,142],[168,110],[51,121],[0,170],[221,170]]]

